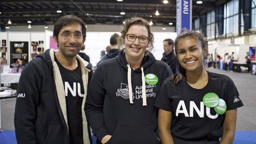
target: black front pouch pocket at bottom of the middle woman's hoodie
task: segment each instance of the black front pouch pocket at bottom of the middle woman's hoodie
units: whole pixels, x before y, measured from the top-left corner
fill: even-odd
[[[118,125],[105,144],[160,144],[151,124]]]

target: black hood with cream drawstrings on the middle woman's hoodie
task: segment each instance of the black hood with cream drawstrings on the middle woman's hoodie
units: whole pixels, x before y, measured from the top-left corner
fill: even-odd
[[[127,62],[126,58],[125,58],[125,49],[122,49],[122,51],[119,53],[118,56],[116,56],[116,60],[118,61],[118,63],[120,63],[120,65],[122,65],[123,68],[125,68],[125,70],[127,70],[127,81],[128,81],[128,90],[129,90],[129,100],[130,100],[130,104],[133,104],[133,99],[132,99],[132,83],[131,83],[131,66],[129,65],[129,63]],[[154,63],[154,61],[156,60],[156,58],[153,56],[153,54],[149,51],[145,51],[145,55],[144,58],[141,62],[141,66],[140,68],[137,68],[136,70],[134,70],[134,72],[141,72],[141,81],[142,81],[142,100],[143,100],[143,106],[147,106],[147,97],[146,97],[146,82],[145,82],[145,75],[144,75],[144,69],[147,69],[148,67],[150,67],[150,65],[152,65],[152,63]]]

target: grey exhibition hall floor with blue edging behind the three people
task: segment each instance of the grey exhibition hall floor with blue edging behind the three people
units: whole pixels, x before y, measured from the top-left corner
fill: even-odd
[[[237,112],[237,131],[234,144],[256,144],[256,76],[248,72],[229,72],[215,68],[208,68],[207,70],[229,76],[236,84],[243,100],[244,106],[239,108]],[[3,132],[0,132],[1,144],[16,143],[10,142],[15,140],[5,140],[6,142],[3,142],[6,139],[6,135],[10,139],[15,139],[13,125],[14,108],[15,99],[1,100],[1,130],[3,130]]]

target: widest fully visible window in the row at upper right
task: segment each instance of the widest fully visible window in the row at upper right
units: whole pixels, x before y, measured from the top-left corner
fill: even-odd
[[[255,0],[254,0],[255,1]],[[224,33],[238,32],[239,0],[232,0],[224,6]]]

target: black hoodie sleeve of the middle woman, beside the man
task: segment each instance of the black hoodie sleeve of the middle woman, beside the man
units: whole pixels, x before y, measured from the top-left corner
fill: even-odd
[[[99,141],[108,134],[108,131],[104,125],[103,118],[103,104],[104,104],[104,89],[103,81],[104,71],[102,65],[96,68],[95,73],[88,85],[88,95],[84,104],[84,111],[88,123],[92,127],[93,134],[97,136]]]

